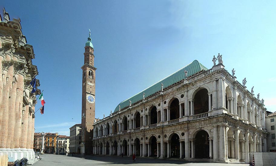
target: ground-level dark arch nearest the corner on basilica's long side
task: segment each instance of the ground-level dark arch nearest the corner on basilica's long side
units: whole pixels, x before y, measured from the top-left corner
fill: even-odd
[[[204,130],[195,135],[195,158],[209,158],[208,133]]]

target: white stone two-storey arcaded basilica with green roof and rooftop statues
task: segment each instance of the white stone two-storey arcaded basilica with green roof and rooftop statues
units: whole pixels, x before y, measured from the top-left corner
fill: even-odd
[[[210,69],[194,60],[94,121],[93,153],[248,162],[266,151],[264,100],[217,59]]]

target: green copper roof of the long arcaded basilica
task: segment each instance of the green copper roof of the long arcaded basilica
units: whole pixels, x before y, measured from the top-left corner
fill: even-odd
[[[145,90],[137,93],[136,95],[122,101],[118,106],[115,108],[114,112],[119,111],[119,106],[121,109],[129,106],[129,100],[131,103],[136,103],[143,99],[143,93],[145,93],[145,98],[148,96],[153,95],[154,93],[161,90],[161,83],[163,83],[163,88],[166,88],[170,85],[173,85],[174,83],[177,83],[180,80],[185,79],[185,73],[184,70],[188,71],[187,76],[191,76],[199,71],[202,70],[208,70],[205,66],[203,66],[201,63],[199,63],[198,60],[194,60],[192,63],[186,65],[185,67],[182,67],[181,69],[177,70],[173,74],[167,76],[166,78],[158,81],[157,83],[153,84],[152,86],[146,88]]]

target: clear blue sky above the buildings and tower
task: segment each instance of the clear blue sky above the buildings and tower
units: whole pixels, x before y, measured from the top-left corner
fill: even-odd
[[[96,118],[197,59],[225,69],[276,111],[275,1],[1,1],[33,45],[44,114],[36,132],[69,135],[81,123],[84,46],[91,29]],[[1,13],[2,14],[2,13]],[[41,104],[38,102],[36,109]]]

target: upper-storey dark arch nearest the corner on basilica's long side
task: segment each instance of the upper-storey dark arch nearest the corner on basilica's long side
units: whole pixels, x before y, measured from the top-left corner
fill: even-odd
[[[208,90],[201,89],[195,94],[194,115],[209,111]]]

